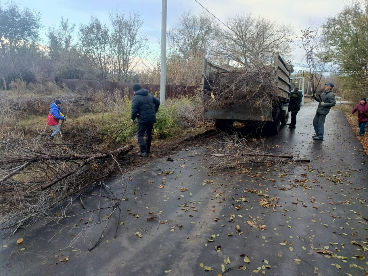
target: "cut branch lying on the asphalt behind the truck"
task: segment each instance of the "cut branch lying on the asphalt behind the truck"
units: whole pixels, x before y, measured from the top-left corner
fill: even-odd
[[[269,153],[245,138],[223,136],[215,141],[210,153],[210,169],[243,168],[253,164],[266,166],[289,165],[310,162],[309,159],[294,159],[292,155]]]

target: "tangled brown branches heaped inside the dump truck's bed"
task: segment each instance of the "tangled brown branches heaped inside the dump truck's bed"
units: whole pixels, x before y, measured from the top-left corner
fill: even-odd
[[[254,66],[219,74],[210,83],[206,108],[225,108],[244,101],[272,108],[277,85],[272,67]],[[210,96],[210,97],[209,97]]]

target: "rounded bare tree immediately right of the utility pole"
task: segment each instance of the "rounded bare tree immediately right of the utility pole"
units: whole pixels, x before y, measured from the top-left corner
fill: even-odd
[[[210,45],[216,39],[218,24],[215,18],[202,11],[199,15],[191,11],[183,12],[177,25],[169,30],[169,44],[176,46],[177,51],[188,58],[190,55],[205,57]]]

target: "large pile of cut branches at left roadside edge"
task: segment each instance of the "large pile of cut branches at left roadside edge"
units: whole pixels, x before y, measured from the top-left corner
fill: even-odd
[[[0,141],[0,227],[58,221],[88,187],[121,170],[119,159],[133,148],[114,150],[74,143],[5,137]],[[123,184],[123,183],[122,183]],[[111,206],[113,211],[119,202]],[[82,203],[83,205],[83,203]],[[58,214],[54,209],[57,208]],[[14,230],[14,231],[15,231]]]

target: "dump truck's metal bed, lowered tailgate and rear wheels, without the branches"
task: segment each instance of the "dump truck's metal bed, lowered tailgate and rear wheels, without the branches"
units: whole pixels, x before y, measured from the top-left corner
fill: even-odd
[[[210,85],[215,78],[226,78],[226,73],[236,70],[231,66],[219,66],[212,64],[206,58],[203,61],[202,92],[204,104],[211,98]],[[287,123],[289,119],[288,105],[291,91],[290,74],[293,68],[286,65],[279,54],[275,54],[272,64],[271,75],[277,85],[277,99],[272,102],[272,108],[266,107],[265,103],[252,101],[234,103],[228,107],[216,107],[206,109],[205,119],[215,119],[217,129],[228,130],[233,127],[234,122],[241,122],[245,126],[255,127],[258,131],[268,135],[277,135],[280,126]],[[213,96],[213,95],[212,95]],[[264,107],[262,107],[264,104]]]

